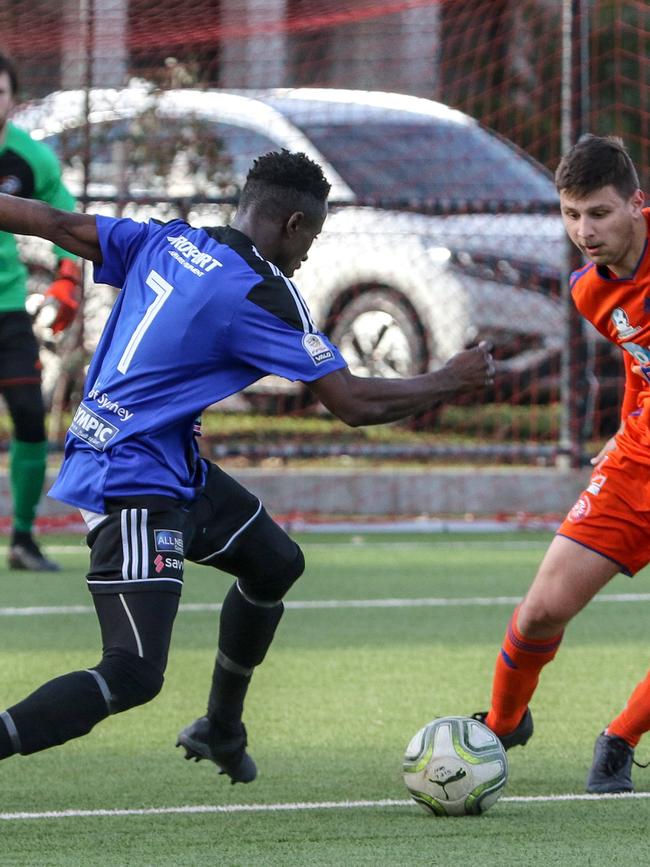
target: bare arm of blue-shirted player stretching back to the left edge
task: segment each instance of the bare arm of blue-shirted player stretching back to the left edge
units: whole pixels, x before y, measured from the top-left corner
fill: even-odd
[[[36,235],[95,264],[102,261],[95,217],[0,193],[0,230]]]

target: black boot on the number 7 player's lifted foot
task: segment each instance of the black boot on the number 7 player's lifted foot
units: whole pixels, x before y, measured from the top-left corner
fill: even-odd
[[[227,774],[231,783],[252,783],[257,776],[255,762],[246,752],[246,729],[241,724],[241,734],[230,739],[219,739],[218,732],[207,716],[202,716],[186,726],[178,735],[177,747],[185,747],[185,758],[200,762],[208,759]]]

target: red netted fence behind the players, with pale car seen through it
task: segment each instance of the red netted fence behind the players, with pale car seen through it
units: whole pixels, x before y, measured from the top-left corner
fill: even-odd
[[[354,370],[495,344],[489,395],[377,430],[264,381],[206,413],[211,454],[575,467],[616,429],[620,360],[569,303],[552,172],[582,132],[616,133],[649,188],[645,0],[0,0],[0,50],[16,122],[88,211],[220,223],[258,154],[319,159],[331,216],[296,282]],[[49,252],[24,254],[37,292]],[[55,443],[114,298],[90,276],[76,328],[42,334]]]

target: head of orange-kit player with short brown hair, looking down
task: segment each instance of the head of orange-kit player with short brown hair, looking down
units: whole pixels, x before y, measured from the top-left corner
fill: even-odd
[[[555,185],[564,227],[576,247],[616,273],[633,268],[647,235],[645,196],[621,139],[582,136],[562,157]]]

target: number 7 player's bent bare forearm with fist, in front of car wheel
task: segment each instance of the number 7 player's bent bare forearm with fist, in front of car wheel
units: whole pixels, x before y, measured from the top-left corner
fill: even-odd
[[[486,343],[454,355],[439,370],[408,379],[354,376],[347,368],[307,385],[330,412],[352,427],[383,424],[423,412],[494,382]]]

